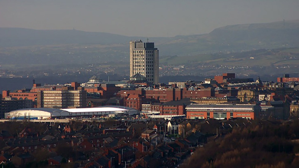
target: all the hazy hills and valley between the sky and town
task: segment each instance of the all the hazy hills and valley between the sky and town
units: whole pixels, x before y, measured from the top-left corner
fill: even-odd
[[[224,26],[209,34],[149,41],[160,50],[162,82],[200,80],[223,72],[273,80],[282,74],[298,76],[298,36],[299,21],[280,21]],[[0,28],[0,77],[44,82],[48,78],[54,82],[57,77],[70,82],[66,79],[93,75],[128,79],[128,42],[140,39],[147,40],[80,30]]]

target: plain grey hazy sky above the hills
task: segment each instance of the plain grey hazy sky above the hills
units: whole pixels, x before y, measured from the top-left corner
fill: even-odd
[[[128,36],[204,34],[283,19],[299,19],[299,0],[0,0],[0,27]]]

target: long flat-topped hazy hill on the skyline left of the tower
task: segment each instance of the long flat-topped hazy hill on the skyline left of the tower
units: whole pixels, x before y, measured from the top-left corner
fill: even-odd
[[[123,35],[80,30],[33,30],[0,28],[0,46],[18,47],[57,44],[111,44],[130,40]]]

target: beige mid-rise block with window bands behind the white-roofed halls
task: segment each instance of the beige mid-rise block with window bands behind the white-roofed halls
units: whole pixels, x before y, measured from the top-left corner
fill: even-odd
[[[85,90],[37,91],[37,108],[84,108]]]

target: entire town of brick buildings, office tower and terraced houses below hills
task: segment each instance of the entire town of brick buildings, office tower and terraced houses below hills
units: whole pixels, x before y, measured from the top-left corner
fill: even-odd
[[[0,163],[176,167],[231,128],[298,118],[298,95],[299,77],[288,74],[275,82],[223,73],[159,83],[159,50],[131,41],[128,81],[93,76],[2,91]]]

